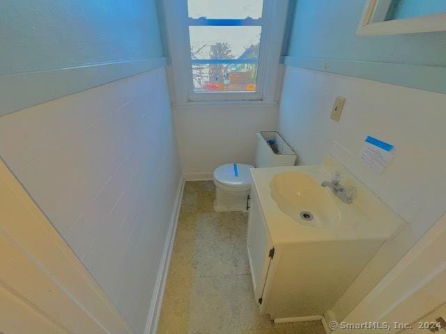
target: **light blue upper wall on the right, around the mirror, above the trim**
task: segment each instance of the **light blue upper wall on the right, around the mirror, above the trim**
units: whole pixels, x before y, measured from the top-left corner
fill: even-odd
[[[446,66],[446,32],[355,36],[364,0],[298,0],[287,56]]]

